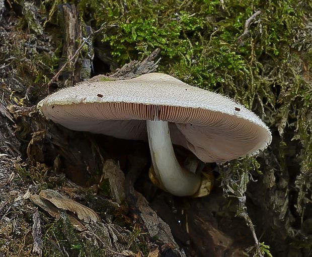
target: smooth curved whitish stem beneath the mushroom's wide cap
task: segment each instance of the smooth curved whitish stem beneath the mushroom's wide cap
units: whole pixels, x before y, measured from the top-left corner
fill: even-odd
[[[191,196],[198,190],[201,175],[194,174],[177,161],[167,121],[146,121],[148,144],[155,175],[165,189],[176,196]]]

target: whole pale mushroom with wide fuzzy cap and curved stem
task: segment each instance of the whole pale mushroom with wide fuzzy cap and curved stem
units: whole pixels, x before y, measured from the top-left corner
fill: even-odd
[[[176,196],[193,195],[201,174],[181,167],[172,144],[206,163],[255,155],[272,139],[266,124],[243,105],[162,73],[81,82],[46,97],[37,107],[71,130],[148,138],[155,176]]]

